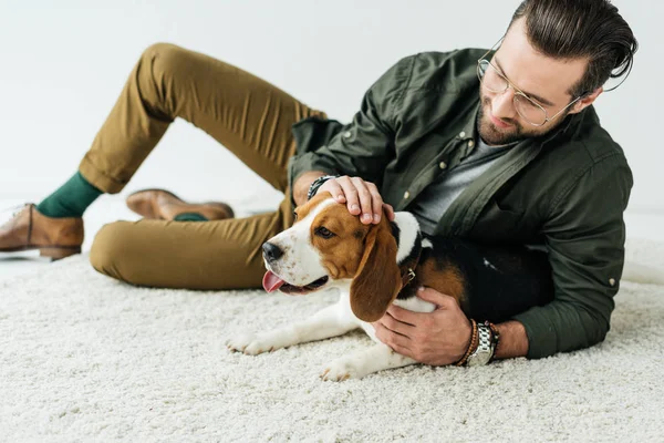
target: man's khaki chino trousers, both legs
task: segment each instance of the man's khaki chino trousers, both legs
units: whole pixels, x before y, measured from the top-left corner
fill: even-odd
[[[184,119],[286,193],[279,208],[215,222],[116,222],[94,239],[90,260],[102,274],[139,286],[258,288],[262,244],[293,223],[287,178],[291,125],[324,113],[238,68],[173,44],[149,47],[80,165],[98,189],[121,192],[162,138]]]

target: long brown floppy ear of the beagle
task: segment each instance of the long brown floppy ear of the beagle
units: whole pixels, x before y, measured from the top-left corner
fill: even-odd
[[[396,239],[385,216],[366,235],[364,254],[351,284],[351,309],[360,320],[378,320],[401,290],[396,250]]]

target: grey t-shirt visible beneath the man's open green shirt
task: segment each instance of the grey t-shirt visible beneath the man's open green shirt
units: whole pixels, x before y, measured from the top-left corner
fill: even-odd
[[[487,171],[498,158],[515,146],[516,143],[504,146],[489,146],[477,137],[475,150],[456,167],[427,186],[408,206],[419,222],[423,233],[433,234],[443,214],[464,189]]]

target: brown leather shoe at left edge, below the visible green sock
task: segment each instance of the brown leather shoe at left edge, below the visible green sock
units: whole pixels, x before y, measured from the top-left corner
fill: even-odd
[[[0,253],[39,249],[42,257],[54,260],[81,254],[82,218],[52,218],[28,204],[0,226]]]

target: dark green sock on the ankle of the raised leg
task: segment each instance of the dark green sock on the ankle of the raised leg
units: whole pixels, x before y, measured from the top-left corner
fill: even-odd
[[[82,217],[87,206],[104,194],[92,186],[81,173],[74,174],[58,190],[37,205],[37,210],[46,217]]]

